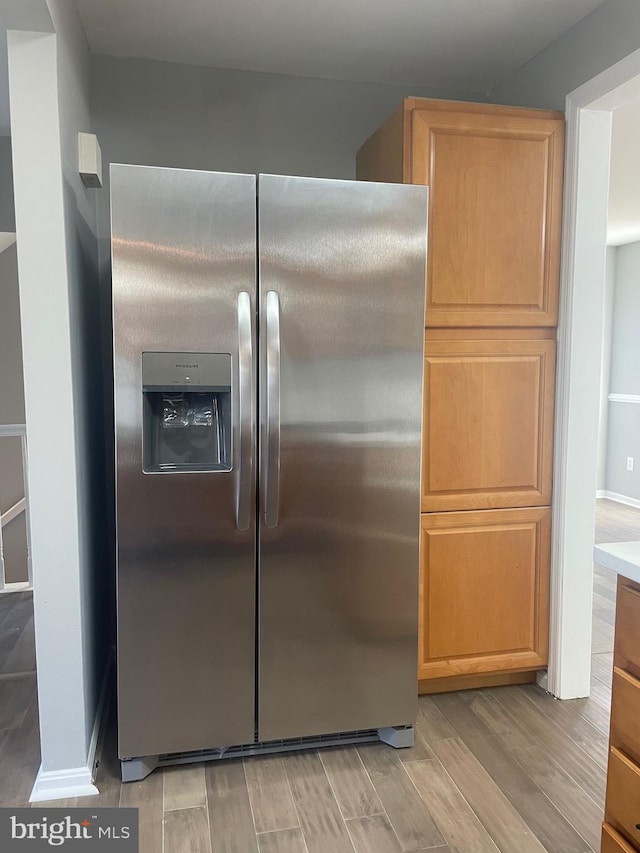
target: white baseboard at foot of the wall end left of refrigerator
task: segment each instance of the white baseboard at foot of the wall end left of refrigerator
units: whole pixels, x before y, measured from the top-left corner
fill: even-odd
[[[107,688],[109,686],[113,659],[114,650],[112,649],[109,652],[102,677],[100,697],[91,731],[86,767],[71,767],[65,770],[43,770],[42,765],[40,765],[31,796],[29,797],[30,803],[42,803],[46,802],[46,800],[65,800],[71,797],[89,797],[100,793],[94,785],[93,778],[100,731],[105,723]]]

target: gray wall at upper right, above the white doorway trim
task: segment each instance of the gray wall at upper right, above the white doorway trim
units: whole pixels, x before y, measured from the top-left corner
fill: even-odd
[[[569,92],[638,49],[640,2],[607,0],[496,86],[489,100],[564,111]]]

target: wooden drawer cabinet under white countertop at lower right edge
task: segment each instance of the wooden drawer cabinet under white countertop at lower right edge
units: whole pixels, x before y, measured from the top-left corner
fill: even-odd
[[[602,851],[640,851],[640,584],[618,577]]]

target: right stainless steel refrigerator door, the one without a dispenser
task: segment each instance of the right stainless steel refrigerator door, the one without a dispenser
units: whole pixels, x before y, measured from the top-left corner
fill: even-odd
[[[261,741],[414,720],[426,194],[259,178]]]

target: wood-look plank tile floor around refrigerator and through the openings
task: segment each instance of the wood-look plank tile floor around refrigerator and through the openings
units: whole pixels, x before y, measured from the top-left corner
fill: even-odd
[[[640,539],[640,511],[599,501],[597,538]],[[0,805],[26,803],[39,763],[31,602],[17,595],[0,597]],[[139,808],[142,853],[597,851],[614,608],[615,577],[596,567],[589,699],[533,685],[421,697],[409,750],[194,764],[128,785],[111,713],[100,794],[60,804]]]

